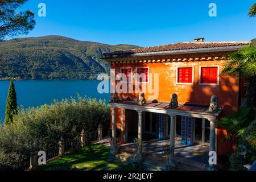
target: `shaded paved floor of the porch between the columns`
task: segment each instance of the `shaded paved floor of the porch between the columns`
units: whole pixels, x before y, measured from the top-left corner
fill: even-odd
[[[163,155],[163,146],[170,143],[170,140],[146,140],[142,144],[144,154],[142,165],[147,169],[165,170],[168,164],[167,156]],[[117,156],[132,163],[136,148],[133,142],[121,144],[118,147]],[[203,171],[204,164],[208,163],[209,146],[196,144],[194,146],[181,144],[180,140],[175,140],[175,160],[179,162],[177,170],[180,171]]]

